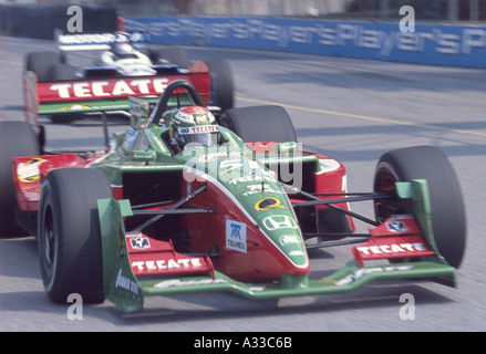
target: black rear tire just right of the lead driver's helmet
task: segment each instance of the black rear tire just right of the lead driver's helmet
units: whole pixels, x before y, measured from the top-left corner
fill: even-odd
[[[231,108],[221,114],[219,124],[244,142],[297,142],[296,131],[281,106],[263,105]]]

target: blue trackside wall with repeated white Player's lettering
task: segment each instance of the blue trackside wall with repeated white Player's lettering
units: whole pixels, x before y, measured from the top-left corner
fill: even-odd
[[[126,18],[157,44],[263,49],[421,64],[486,67],[486,25],[281,18]]]

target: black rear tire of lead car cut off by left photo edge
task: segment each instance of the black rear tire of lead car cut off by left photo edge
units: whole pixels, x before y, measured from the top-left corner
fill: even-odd
[[[27,122],[0,122],[0,237],[25,236],[15,223],[19,206],[12,174],[12,157],[38,156],[40,146]]]

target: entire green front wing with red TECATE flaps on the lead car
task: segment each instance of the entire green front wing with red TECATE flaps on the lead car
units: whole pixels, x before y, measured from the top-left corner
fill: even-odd
[[[232,292],[249,299],[277,299],[343,293],[372,281],[399,279],[427,279],[454,287],[456,269],[435,246],[426,181],[397,183],[396,190],[400,198],[413,199],[414,215],[391,217],[370,229],[370,239],[351,248],[354,259],[342,268],[324,278],[286,274],[267,283],[236,281],[216,271],[207,254],[182,254],[170,242],[126,233],[123,219],[133,215],[130,201],[100,199],[104,294],[132,312],[141,310],[144,296],[151,295]],[[391,262],[366,264],[378,259]],[[151,277],[144,277],[147,274]]]

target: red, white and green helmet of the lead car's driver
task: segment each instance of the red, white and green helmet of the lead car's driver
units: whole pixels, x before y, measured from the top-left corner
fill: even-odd
[[[215,116],[201,106],[177,110],[170,118],[169,133],[182,149],[189,143],[216,146],[219,140],[219,126]]]

